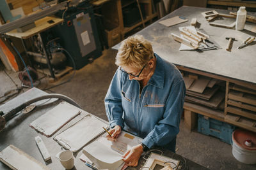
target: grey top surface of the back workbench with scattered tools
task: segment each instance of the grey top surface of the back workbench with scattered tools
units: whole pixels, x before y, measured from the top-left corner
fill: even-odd
[[[182,24],[166,27],[158,22],[148,25],[145,29],[137,32],[148,39],[153,46],[154,52],[160,57],[178,66],[189,67],[191,69],[203,71],[206,73],[217,74],[223,77],[232,78],[235,80],[248,81],[256,83],[256,45],[249,45],[241,50],[236,47],[241,45],[248,36],[256,36],[256,24],[246,22],[243,31],[236,31],[235,29],[226,29],[221,27],[214,27],[209,25],[207,20],[202,16],[202,12],[216,10],[218,13],[228,14],[228,10],[218,10],[211,8],[198,8],[191,6],[182,6],[181,8],[166,15],[160,20],[181,16],[187,18],[189,21]],[[249,13],[256,15],[256,13]],[[171,33],[180,35],[179,27],[190,25],[191,19],[196,18],[200,23],[200,29],[204,29],[214,41],[221,46],[220,50],[209,50],[204,52],[196,51],[179,51],[180,43],[175,41]],[[236,21],[235,18],[225,18],[225,20],[216,20],[217,23],[230,24]],[[228,23],[229,22],[229,23]],[[226,37],[234,37],[238,41],[234,41],[231,52],[225,50],[228,40]],[[113,46],[118,50],[120,43]]]

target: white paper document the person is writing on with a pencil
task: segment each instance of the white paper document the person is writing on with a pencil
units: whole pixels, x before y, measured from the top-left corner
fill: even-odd
[[[142,139],[122,131],[117,141],[108,141],[107,134],[83,148],[83,153],[100,169],[116,169],[124,163],[122,155],[132,146],[141,143]]]

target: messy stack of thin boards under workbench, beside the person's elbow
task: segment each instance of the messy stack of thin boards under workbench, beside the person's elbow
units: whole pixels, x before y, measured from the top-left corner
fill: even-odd
[[[182,74],[186,85],[185,101],[224,110],[225,92],[218,85],[220,81],[196,74]]]

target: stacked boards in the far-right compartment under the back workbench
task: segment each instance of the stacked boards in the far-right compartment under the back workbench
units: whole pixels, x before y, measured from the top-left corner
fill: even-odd
[[[256,132],[256,89],[227,82],[225,121]]]

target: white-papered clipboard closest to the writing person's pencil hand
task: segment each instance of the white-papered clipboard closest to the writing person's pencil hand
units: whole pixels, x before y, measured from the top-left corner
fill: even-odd
[[[77,152],[77,150],[104,132],[102,127],[108,128],[108,124],[88,113],[74,125],[55,136],[54,140],[67,150]]]

